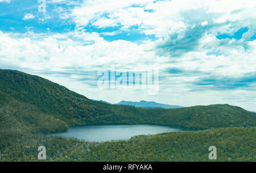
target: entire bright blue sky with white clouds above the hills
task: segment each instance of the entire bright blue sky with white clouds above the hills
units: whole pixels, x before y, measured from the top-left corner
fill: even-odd
[[[255,18],[255,0],[0,0],[0,69],[110,103],[256,111]],[[158,92],[99,87],[113,67],[158,69]]]

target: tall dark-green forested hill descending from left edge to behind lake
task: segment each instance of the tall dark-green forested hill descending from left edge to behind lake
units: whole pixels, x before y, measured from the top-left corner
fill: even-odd
[[[164,113],[162,109],[149,112],[93,101],[57,83],[16,70],[0,70],[0,91],[10,100],[30,104],[68,125],[139,123],[146,116]]]

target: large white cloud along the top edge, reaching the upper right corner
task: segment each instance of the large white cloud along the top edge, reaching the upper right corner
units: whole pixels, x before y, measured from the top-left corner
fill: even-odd
[[[122,29],[126,29],[139,26],[139,32],[167,39],[177,31],[183,34],[180,29],[185,32],[194,24],[206,26],[216,23],[226,26],[227,29],[229,24],[226,22],[232,22],[236,23],[236,27],[233,27],[233,31],[236,32],[235,30],[244,27],[245,23],[255,23],[255,8],[254,0],[98,0],[84,1],[81,6],[72,10],[71,15],[77,26],[86,26],[88,23],[100,28],[121,26]],[[184,23],[188,28],[180,26],[180,23]],[[252,34],[250,30],[250,35]]]

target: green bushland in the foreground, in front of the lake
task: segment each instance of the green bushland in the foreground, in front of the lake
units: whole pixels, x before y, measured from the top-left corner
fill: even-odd
[[[0,149],[1,161],[39,161],[41,145],[46,146],[46,161],[256,161],[255,138],[256,128],[172,132],[111,142],[6,132],[0,136]],[[217,147],[217,160],[208,158],[212,145]]]

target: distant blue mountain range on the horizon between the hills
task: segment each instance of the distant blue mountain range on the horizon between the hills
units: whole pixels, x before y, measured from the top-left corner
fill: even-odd
[[[144,100],[141,100],[141,102],[127,102],[123,100],[117,104],[123,104],[126,106],[134,106],[134,107],[141,107],[141,108],[164,108],[164,109],[182,108],[182,106],[161,104],[156,102],[147,102]]]

